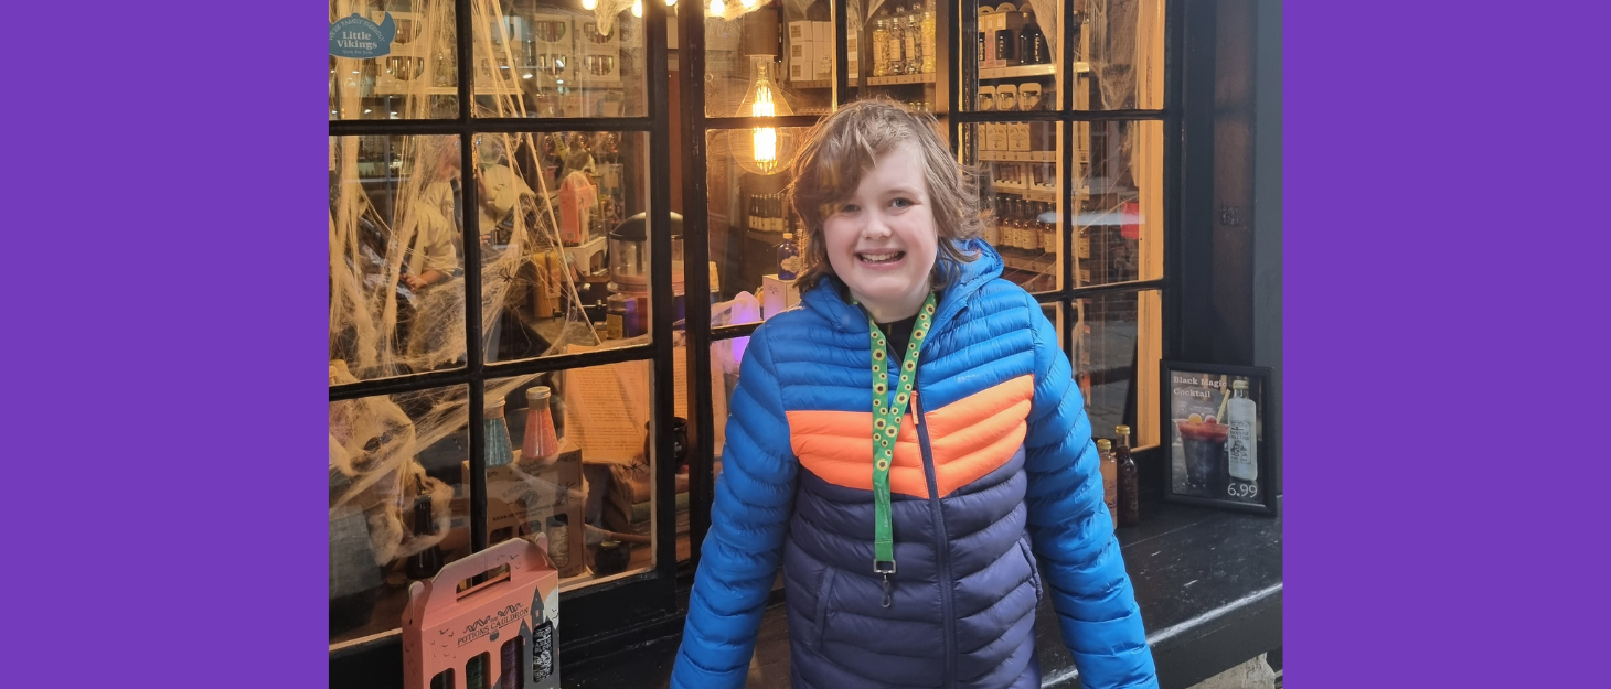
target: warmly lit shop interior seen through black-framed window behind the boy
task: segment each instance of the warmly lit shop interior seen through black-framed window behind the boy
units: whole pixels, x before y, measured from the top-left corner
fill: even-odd
[[[332,663],[519,538],[567,652],[670,629],[748,335],[799,301],[788,164],[836,103],[936,116],[1095,435],[1166,454],[1174,8],[332,0],[390,35],[329,60]]]

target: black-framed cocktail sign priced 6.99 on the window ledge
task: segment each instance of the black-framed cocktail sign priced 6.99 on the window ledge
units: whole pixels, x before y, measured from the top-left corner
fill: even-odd
[[[1276,514],[1269,377],[1265,367],[1163,362],[1166,501]]]

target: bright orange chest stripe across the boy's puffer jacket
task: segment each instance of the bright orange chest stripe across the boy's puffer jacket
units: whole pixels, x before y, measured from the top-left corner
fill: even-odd
[[[930,449],[934,452],[934,485],[941,496],[983,478],[1012,459],[1028,431],[1033,398],[1034,377],[1021,375],[941,409],[923,411]],[[793,411],[788,419],[789,443],[802,467],[838,486],[873,489],[872,411]],[[901,423],[901,436],[896,438],[889,493],[928,497],[923,454],[910,407]]]

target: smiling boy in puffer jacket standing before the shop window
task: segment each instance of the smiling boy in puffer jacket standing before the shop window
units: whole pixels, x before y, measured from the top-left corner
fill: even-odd
[[[1042,596],[1086,689],[1157,686],[1068,359],[933,127],[852,103],[794,163],[802,307],[744,356],[673,687],[744,684],[780,555],[796,687],[1039,687]]]

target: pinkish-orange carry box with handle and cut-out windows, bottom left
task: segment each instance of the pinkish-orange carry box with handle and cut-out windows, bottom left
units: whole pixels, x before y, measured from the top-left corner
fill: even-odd
[[[406,689],[559,689],[559,571],[546,536],[499,543],[409,586]]]

